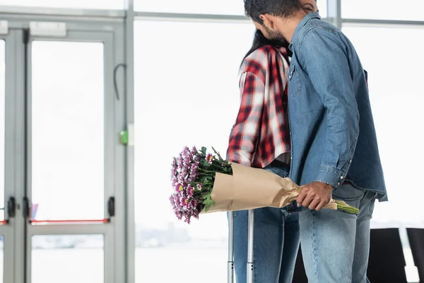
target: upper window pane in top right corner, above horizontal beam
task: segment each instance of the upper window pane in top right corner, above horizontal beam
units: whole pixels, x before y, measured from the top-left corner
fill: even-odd
[[[420,11],[422,5],[422,0],[341,0],[341,16],[343,18],[424,21],[424,14]]]

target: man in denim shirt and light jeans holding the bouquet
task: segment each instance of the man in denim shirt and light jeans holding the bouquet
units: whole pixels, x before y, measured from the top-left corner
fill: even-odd
[[[293,52],[288,72],[290,178],[303,185],[300,241],[309,282],[367,282],[370,219],[387,200],[363,67],[353,45],[298,0],[245,0],[245,12]],[[334,199],[360,209],[322,209]]]

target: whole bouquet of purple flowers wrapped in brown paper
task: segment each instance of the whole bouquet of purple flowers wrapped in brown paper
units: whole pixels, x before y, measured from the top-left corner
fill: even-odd
[[[213,148],[212,148],[213,149]],[[170,202],[178,219],[188,224],[206,212],[237,211],[260,207],[285,207],[298,197],[301,187],[259,168],[225,161],[213,149],[186,146],[172,160]],[[331,200],[324,208],[358,214],[346,202]]]

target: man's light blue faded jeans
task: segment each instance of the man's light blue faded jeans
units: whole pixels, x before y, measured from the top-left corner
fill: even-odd
[[[299,213],[300,241],[310,283],[365,283],[370,252],[370,219],[377,194],[342,185],[335,200],[360,209],[358,215],[322,209]]]

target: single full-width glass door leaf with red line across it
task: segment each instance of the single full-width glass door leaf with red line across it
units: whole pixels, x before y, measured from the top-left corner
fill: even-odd
[[[114,33],[27,39],[26,282],[116,282]]]

